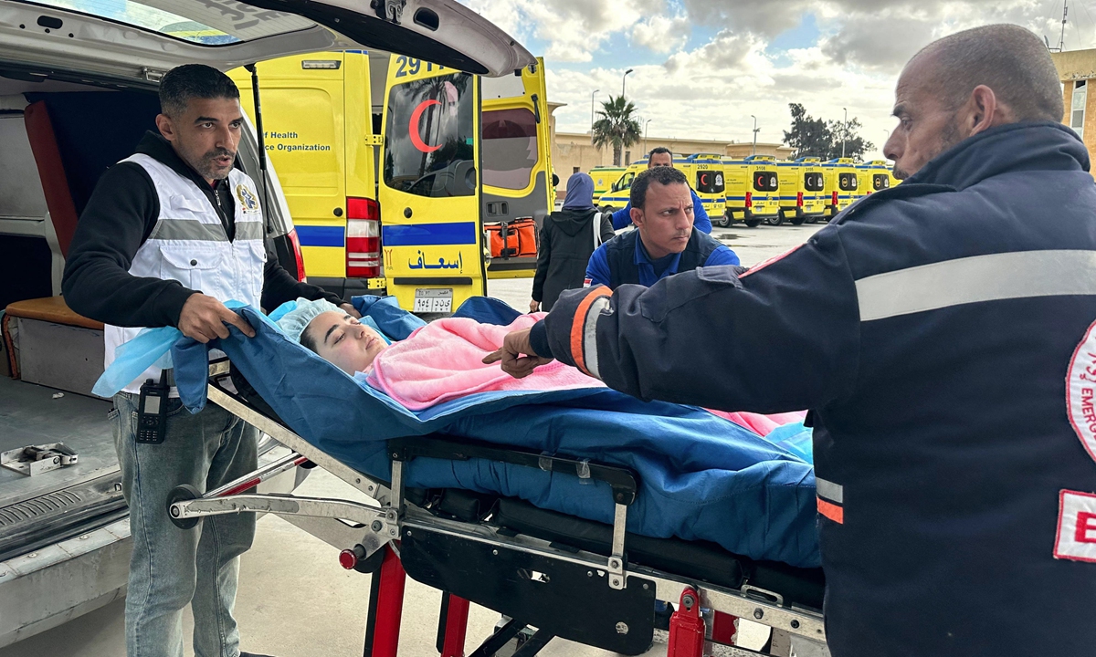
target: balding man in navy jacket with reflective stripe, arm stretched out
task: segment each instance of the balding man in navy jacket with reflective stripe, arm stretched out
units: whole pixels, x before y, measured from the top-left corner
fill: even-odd
[[[743,275],[566,292],[499,357],[810,408],[834,657],[1096,655],[1088,153],[1014,25],[931,44],[895,96],[903,184]]]

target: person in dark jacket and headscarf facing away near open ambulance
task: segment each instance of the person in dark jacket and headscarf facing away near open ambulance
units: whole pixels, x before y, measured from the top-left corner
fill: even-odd
[[[593,178],[585,173],[572,175],[563,209],[545,218],[540,228],[529,312],[551,310],[560,292],[581,288],[590,256],[614,234],[612,217],[594,207]]]

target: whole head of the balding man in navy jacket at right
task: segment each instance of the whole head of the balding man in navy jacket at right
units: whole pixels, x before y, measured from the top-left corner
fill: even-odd
[[[933,42],[905,65],[894,91],[899,125],[883,147],[894,175],[989,128],[1062,119],[1062,88],[1039,38],[986,25]]]

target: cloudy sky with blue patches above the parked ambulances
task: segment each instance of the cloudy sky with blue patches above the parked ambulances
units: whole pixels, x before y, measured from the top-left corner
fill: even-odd
[[[934,38],[1016,23],[1057,45],[1061,0],[460,0],[546,58],[558,129],[590,128],[591,92],[627,96],[650,135],[780,141],[788,103],[864,124],[876,155],[894,81]],[[1065,49],[1096,47],[1096,2],[1071,2]]]

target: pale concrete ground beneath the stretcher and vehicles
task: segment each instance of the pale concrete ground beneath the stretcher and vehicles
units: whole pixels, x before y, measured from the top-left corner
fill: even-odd
[[[819,226],[716,228],[713,233],[731,246],[744,265],[753,265],[806,241]],[[492,296],[514,308],[526,309],[530,279],[498,280],[489,284]],[[297,491],[300,495],[353,499],[356,492],[334,476],[313,471]],[[362,654],[365,614],[368,608],[369,576],[339,566],[338,551],[275,517],[259,520],[254,546],[240,568],[240,590],[236,613],[242,648],[277,657],[345,656]],[[441,593],[408,581],[401,624],[400,655],[436,655],[434,638]],[[125,657],[124,602],[115,602],[60,627],[0,649],[0,657]],[[472,607],[468,626],[469,652],[487,637],[499,614]],[[193,627],[187,612],[186,632]],[[766,632],[743,623],[742,645],[760,647]],[[192,654],[186,637],[187,655]],[[546,657],[608,656],[586,646],[553,641],[541,653]],[[648,655],[665,655],[657,643]]]

